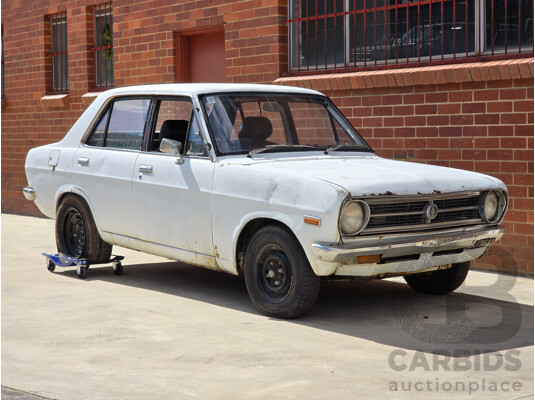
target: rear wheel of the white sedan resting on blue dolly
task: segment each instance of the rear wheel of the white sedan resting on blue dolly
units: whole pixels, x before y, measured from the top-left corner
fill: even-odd
[[[82,198],[67,196],[56,213],[58,252],[91,263],[108,262],[112,246],[100,237],[91,210]]]

